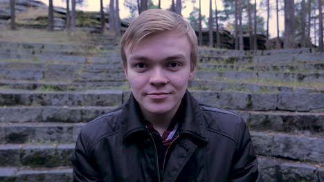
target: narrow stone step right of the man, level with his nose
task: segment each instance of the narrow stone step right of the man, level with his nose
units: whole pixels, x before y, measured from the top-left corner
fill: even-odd
[[[324,83],[324,72],[300,73],[300,72],[195,72],[196,79],[271,79],[278,81],[316,81]]]

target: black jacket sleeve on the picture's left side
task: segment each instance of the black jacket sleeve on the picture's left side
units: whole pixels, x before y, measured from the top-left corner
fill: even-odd
[[[98,172],[96,171],[93,160],[89,157],[86,137],[80,132],[75,144],[75,150],[71,155],[73,166],[73,182],[79,181],[98,181]]]

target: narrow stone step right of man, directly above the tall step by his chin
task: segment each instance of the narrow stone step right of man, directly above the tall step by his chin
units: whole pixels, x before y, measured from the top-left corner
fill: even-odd
[[[261,81],[261,80],[258,80]],[[249,83],[250,82],[250,83]],[[266,82],[266,81],[264,81]],[[306,84],[305,84],[306,85]],[[301,83],[286,82],[279,83],[253,83],[253,81],[213,81],[213,80],[190,80],[188,88],[190,90],[214,90],[214,91],[244,91],[252,93],[264,92],[299,92],[299,93],[324,93],[324,84],[316,85],[307,83],[308,88]]]

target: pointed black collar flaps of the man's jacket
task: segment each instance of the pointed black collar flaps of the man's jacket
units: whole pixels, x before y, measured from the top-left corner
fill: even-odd
[[[134,134],[138,134],[139,136],[147,134],[147,129],[143,123],[143,114],[133,94],[130,95],[121,114],[121,133],[123,134],[123,141],[132,138],[131,136]],[[207,141],[205,121],[201,108],[188,90],[183,96],[177,114],[181,114],[180,118],[182,118],[182,120],[179,121],[180,135],[186,134],[194,136],[201,141]]]

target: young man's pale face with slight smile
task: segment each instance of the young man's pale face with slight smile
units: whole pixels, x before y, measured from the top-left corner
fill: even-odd
[[[125,48],[126,77],[143,114],[175,113],[186,92],[191,46],[185,34],[159,32]]]

